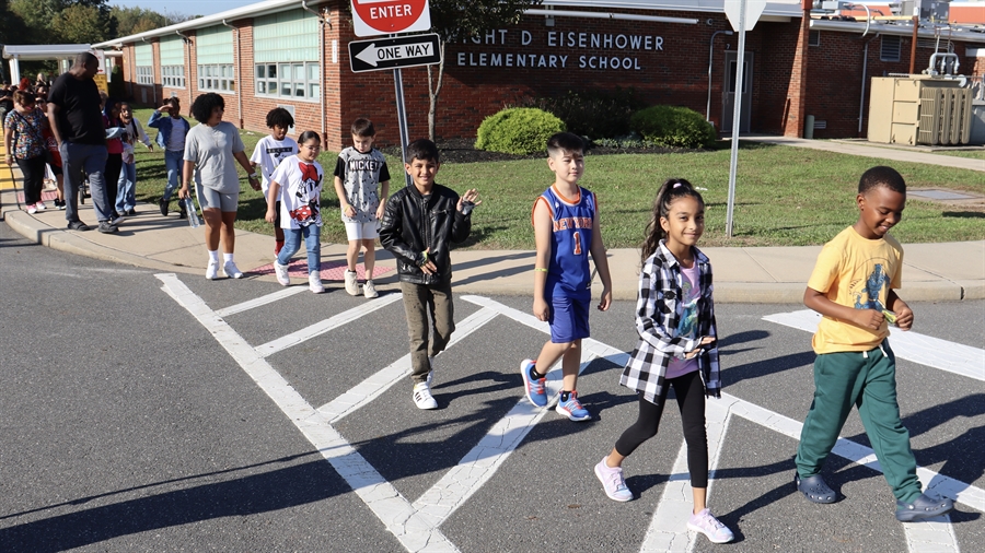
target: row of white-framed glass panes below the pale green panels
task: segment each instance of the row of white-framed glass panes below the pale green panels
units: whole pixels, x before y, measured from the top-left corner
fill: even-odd
[[[321,71],[317,62],[257,63],[255,66],[257,96],[318,99]],[[154,84],[153,68],[137,68],[138,84]],[[161,84],[169,89],[185,87],[185,67],[161,68]],[[198,90],[209,92],[236,92],[235,71],[232,63],[198,66]]]

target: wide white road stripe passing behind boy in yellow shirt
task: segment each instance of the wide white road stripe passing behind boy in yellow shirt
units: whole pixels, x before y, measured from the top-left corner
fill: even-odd
[[[803,309],[767,315],[763,317],[763,320],[813,333],[818,330],[821,315],[811,309]],[[985,350],[983,349],[931,338],[912,330],[904,332],[894,328],[890,329],[890,345],[897,358],[985,381]]]

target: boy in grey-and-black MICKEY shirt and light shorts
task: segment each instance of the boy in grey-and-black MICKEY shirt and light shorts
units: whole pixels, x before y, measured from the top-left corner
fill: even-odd
[[[359,295],[356,280],[356,261],[360,247],[364,250],[362,264],[366,268],[366,297],[376,297],[373,285],[373,267],[376,260],[376,225],[383,219],[386,197],[390,196],[390,170],[383,154],[373,148],[376,129],[369,119],[356,119],[352,123],[352,145],[338,153],[335,165],[335,193],[341,208],[343,223],[349,249],[346,251],[346,292]],[[376,195],[376,186],[382,185],[382,195]]]

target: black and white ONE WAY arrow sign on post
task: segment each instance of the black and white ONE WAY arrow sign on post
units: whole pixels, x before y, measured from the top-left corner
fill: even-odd
[[[437,34],[349,43],[349,67],[354,73],[440,62]]]

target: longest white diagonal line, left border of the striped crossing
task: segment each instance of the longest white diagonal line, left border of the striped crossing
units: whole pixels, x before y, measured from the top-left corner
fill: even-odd
[[[217,316],[174,273],[155,274],[163,282],[162,290],[188,310],[239,363],[290,419],[304,437],[332,463],[356,495],[383,521],[407,551],[447,552],[457,548],[426,517],[418,515],[410,503],[348,442],[312,408],[291,385],[251,348],[232,327]],[[397,296],[399,297],[399,296]]]

